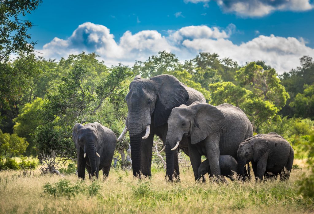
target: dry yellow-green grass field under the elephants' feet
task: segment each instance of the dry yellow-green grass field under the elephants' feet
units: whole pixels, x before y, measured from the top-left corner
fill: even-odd
[[[313,204],[298,194],[296,182],[307,173],[294,169],[290,180],[255,183],[196,183],[191,168],[180,183],[166,182],[163,170],[151,179],[134,179],[131,171],[111,169],[105,181],[81,181],[75,174],[23,176],[0,172],[0,213],[313,213]]]

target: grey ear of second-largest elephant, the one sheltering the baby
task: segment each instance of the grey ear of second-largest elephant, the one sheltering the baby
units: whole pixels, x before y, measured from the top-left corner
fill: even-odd
[[[196,112],[194,126],[191,131],[192,144],[196,144],[211,133],[218,131],[225,120],[224,113],[216,106],[194,102],[189,107]]]

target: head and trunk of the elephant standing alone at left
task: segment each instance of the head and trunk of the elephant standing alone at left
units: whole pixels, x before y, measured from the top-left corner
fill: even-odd
[[[100,155],[97,152],[98,144],[98,131],[92,124],[83,126],[80,123],[76,123],[73,127],[72,133],[73,141],[78,152],[78,156],[84,153],[84,158],[88,158],[89,164],[92,170],[92,176],[96,175],[98,178],[98,170],[96,167],[96,155]]]

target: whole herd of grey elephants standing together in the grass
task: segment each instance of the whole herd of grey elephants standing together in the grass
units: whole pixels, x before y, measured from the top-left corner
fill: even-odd
[[[151,176],[157,135],[164,143],[166,178],[171,181],[180,179],[179,149],[189,156],[195,180],[205,181],[206,173],[220,181],[225,181],[224,176],[234,179],[234,172],[250,178],[249,162],[256,179],[278,175],[289,179],[294,151],[282,136],[275,132],[253,136],[252,124],[241,109],[207,104],[203,94],[172,75],[136,76],[126,102],[126,126],[118,139],[97,122],[74,125],[78,177],[85,178],[85,168],[89,178],[98,178],[101,169],[107,177],[116,142],[129,131],[134,176]],[[203,155],[207,159],[202,162]]]

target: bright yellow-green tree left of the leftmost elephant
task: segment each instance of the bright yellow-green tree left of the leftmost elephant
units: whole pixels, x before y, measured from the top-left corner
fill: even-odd
[[[27,142],[29,142],[25,153],[26,155],[36,155],[36,151],[33,148],[33,135],[36,131],[36,127],[41,124],[40,120],[37,118],[37,110],[42,103],[43,100],[41,98],[36,98],[34,102],[25,104],[19,115],[14,119],[14,133],[19,137],[24,137]]]

